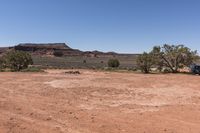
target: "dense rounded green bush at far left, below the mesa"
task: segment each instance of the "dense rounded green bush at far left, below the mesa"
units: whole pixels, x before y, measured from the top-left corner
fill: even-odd
[[[5,66],[12,71],[20,71],[28,68],[28,65],[33,64],[31,55],[23,51],[10,51],[6,53],[2,59],[4,60]]]

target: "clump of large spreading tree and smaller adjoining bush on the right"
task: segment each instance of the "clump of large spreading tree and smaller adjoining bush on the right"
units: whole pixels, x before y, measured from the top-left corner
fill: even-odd
[[[149,73],[152,66],[157,70],[177,73],[179,69],[190,66],[197,59],[197,51],[184,45],[155,46],[150,53],[143,53],[137,58],[137,66],[144,73]]]

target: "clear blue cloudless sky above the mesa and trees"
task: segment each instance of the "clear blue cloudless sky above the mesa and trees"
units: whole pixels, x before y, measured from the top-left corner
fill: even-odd
[[[170,43],[200,51],[200,0],[0,0],[0,46],[25,42],[122,53]]]

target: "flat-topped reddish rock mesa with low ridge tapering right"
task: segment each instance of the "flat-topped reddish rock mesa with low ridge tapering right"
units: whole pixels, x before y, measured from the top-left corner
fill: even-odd
[[[115,57],[118,55],[114,52],[100,52],[100,51],[80,51],[72,49],[65,43],[21,43],[14,47],[0,48],[0,54],[7,51],[7,49],[14,49],[20,51],[30,52],[33,55],[51,56],[55,52],[62,52],[63,56],[87,56],[87,57]]]

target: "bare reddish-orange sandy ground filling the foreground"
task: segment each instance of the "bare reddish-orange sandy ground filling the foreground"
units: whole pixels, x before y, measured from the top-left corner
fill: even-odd
[[[200,76],[0,73],[0,133],[199,133]]]

